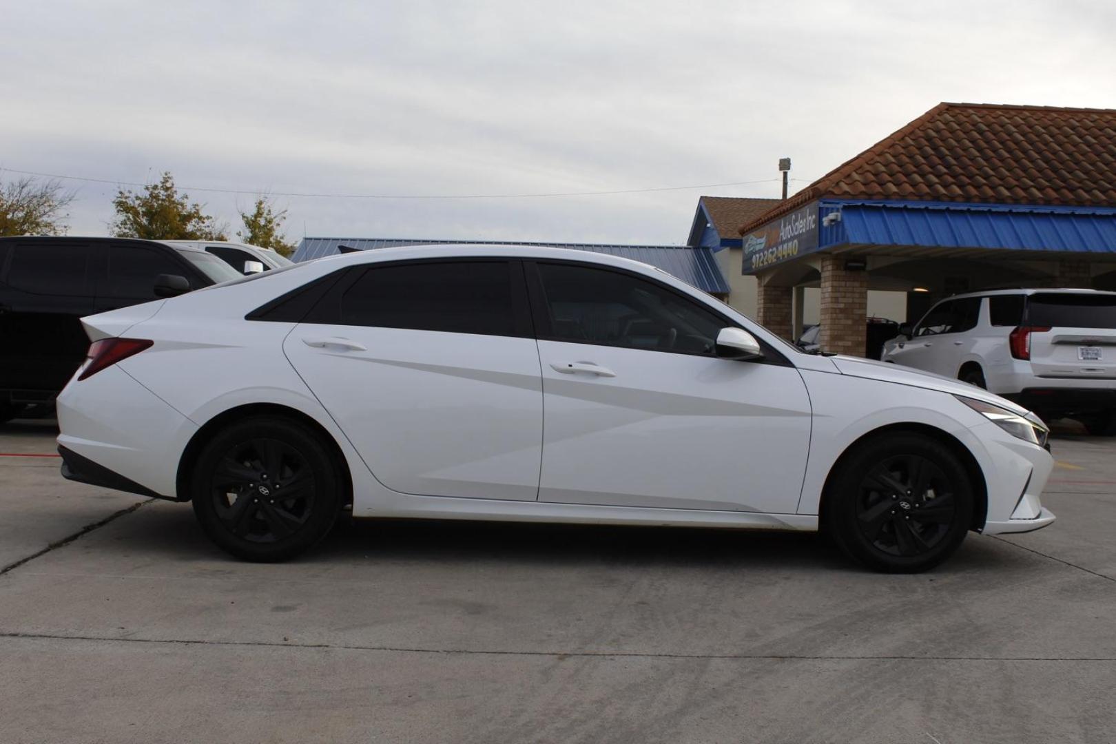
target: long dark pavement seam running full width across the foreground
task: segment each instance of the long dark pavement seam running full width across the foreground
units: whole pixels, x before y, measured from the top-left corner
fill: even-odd
[[[110,644],[163,644],[169,646],[240,646],[246,648],[297,648],[343,651],[383,651],[450,656],[545,656],[565,658],[648,658],[648,659],[727,659],[787,661],[1116,661],[1116,656],[893,656],[893,655],[810,655],[810,654],[653,654],[650,651],[527,651],[470,648],[417,648],[406,646],[366,646],[360,644],[304,644],[269,640],[196,640],[190,638],[113,638],[110,636],[64,635],[48,632],[0,631],[0,638],[26,640],[85,640]]]

